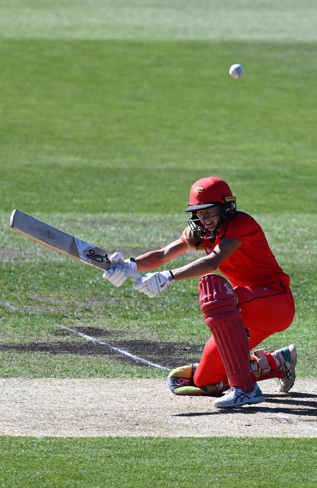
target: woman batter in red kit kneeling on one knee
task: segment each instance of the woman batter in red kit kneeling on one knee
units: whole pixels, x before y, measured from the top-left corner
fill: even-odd
[[[128,278],[127,268],[148,271],[189,247],[205,251],[192,263],[147,273],[133,284],[153,298],[178,280],[200,277],[199,303],[212,335],[199,364],[171,371],[169,387],[177,395],[216,394],[216,407],[265,401],[257,382],[268,378],[277,378],[280,391],[289,391],[295,381],[294,345],[258,349],[250,356],[261,341],[291,325],[295,314],[290,278],[277,264],[263,230],[237,210],[229,185],[216,177],[193,184],[185,212],[190,213],[189,226],[177,241],[136,260],[115,253],[103,277],[120,286]]]

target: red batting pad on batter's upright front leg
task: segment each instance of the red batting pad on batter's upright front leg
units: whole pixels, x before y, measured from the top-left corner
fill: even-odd
[[[249,342],[230,283],[216,273],[199,280],[199,303],[205,323],[214,336],[230,386],[254,388]]]

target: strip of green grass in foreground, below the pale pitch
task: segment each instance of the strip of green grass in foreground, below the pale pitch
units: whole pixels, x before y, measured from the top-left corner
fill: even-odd
[[[0,439],[3,450],[0,481],[12,488],[316,487],[308,439],[25,437]]]

